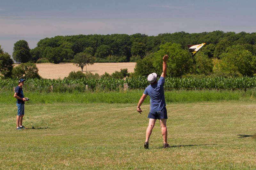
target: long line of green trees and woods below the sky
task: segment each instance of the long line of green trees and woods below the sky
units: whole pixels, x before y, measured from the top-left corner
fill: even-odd
[[[191,57],[187,45],[204,42],[206,45],[195,57]],[[1,51],[0,56],[6,55],[3,50]],[[256,73],[256,33],[245,32],[176,32],[157,36],[141,33],[55,36],[40,40],[34,49],[29,49],[25,40],[17,41],[14,44],[12,57],[17,63],[79,63],[81,58],[87,58],[85,61],[87,64],[136,62],[133,76],[144,76],[159,68],[158,60],[164,53],[170,55],[168,65],[170,77],[185,75],[236,77],[253,76]],[[7,76],[4,71],[1,71],[1,74]]]

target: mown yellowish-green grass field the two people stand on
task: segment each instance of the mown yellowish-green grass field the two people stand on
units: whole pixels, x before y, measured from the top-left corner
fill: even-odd
[[[172,147],[157,122],[149,150],[149,104],[136,106],[30,102],[17,131],[15,103],[1,102],[0,169],[256,169],[255,100],[168,103]]]

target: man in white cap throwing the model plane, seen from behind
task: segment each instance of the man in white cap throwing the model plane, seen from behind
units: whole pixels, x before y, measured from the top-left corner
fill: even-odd
[[[145,91],[143,92],[138,106],[137,111],[141,114],[142,110],[140,106],[142,105],[143,101],[146,99],[147,96],[150,97],[150,111],[148,113],[148,128],[146,131],[146,141],[144,143],[144,148],[148,149],[148,141],[149,137],[152,133],[152,130],[155,126],[156,120],[160,120],[160,126],[161,131],[164,139],[164,148],[170,147],[170,145],[167,143],[167,128],[166,128],[166,121],[168,119],[167,117],[167,110],[166,110],[166,104],[164,99],[164,79],[166,76],[166,70],[167,70],[167,64],[166,61],[168,59],[168,55],[164,55],[163,57],[163,73],[161,74],[161,77],[157,81],[156,79],[156,73],[152,73],[148,75],[148,82],[150,85],[146,87]]]

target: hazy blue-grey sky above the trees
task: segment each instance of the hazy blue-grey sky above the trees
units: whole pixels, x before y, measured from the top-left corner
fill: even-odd
[[[57,35],[256,32],[255,0],[0,0],[0,45]]]

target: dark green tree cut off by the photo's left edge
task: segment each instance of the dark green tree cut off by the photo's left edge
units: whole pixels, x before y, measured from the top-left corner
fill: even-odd
[[[4,52],[0,46],[0,77],[10,78],[12,76],[13,64],[11,55]]]

